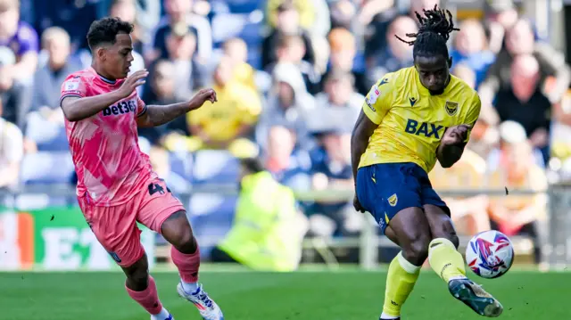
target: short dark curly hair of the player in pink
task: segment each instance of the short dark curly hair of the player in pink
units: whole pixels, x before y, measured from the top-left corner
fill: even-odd
[[[91,50],[104,44],[115,44],[115,37],[120,33],[130,34],[133,32],[133,25],[119,18],[103,18],[94,21],[87,32],[87,44]]]

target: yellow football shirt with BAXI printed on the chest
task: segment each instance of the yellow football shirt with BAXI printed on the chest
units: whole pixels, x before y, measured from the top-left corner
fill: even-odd
[[[443,94],[432,95],[420,83],[414,67],[388,73],[371,88],[363,103],[364,113],[378,127],[359,167],[413,162],[430,172],[446,128],[474,125],[480,106],[476,91],[452,75]]]

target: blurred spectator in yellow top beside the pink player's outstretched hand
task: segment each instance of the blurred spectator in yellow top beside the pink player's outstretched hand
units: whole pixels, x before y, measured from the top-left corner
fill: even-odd
[[[257,154],[258,149],[250,141],[252,129],[261,113],[261,97],[251,87],[233,82],[232,61],[223,56],[214,71],[214,90],[218,103],[207,108],[190,111],[186,122],[192,137],[186,138],[186,150],[228,150],[236,157]],[[170,150],[177,150],[180,139],[170,137]]]

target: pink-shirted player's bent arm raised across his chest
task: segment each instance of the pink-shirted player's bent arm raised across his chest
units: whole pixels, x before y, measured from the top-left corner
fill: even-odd
[[[133,94],[137,86],[145,84],[145,77],[148,74],[147,70],[138,70],[127,78],[118,90],[108,94],[99,94],[84,98],[77,96],[66,97],[62,100],[63,115],[71,122],[92,117],[113,103]]]

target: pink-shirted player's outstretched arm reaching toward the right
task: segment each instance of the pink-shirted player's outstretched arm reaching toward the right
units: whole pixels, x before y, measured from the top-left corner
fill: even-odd
[[[196,110],[210,101],[216,103],[216,92],[213,89],[203,89],[185,103],[174,103],[168,105],[148,105],[146,111],[137,118],[138,127],[157,127],[177,119],[186,112]]]

